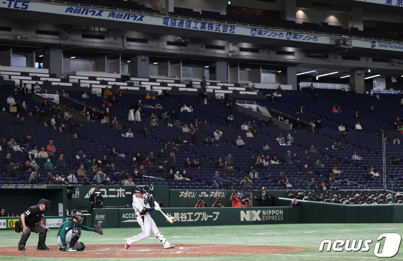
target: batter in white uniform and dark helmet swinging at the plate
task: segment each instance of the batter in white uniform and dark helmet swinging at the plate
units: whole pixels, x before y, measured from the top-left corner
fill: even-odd
[[[154,208],[150,207],[150,204],[147,202],[147,200],[154,203]],[[164,248],[175,247],[175,245],[170,244],[165,239],[160,230],[158,230],[156,224],[154,223],[154,220],[150,216],[150,212],[152,212],[153,210],[161,209],[152,194],[147,193],[142,186],[135,187],[132,206],[137,216],[137,223],[139,223],[143,232],[138,234],[137,236],[129,238],[125,245],[126,249],[129,249],[131,244],[149,237],[151,232],[153,232],[155,237],[160,240]]]

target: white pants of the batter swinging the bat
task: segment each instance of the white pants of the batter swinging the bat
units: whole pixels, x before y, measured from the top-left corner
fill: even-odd
[[[139,223],[142,233],[137,236],[133,236],[127,240],[127,244],[131,245],[137,241],[143,240],[150,236],[151,232],[155,235],[155,237],[160,240],[161,244],[164,247],[168,247],[170,243],[165,239],[165,237],[161,234],[160,230],[158,230],[157,225],[149,214],[143,216],[137,216],[137,223]]]

